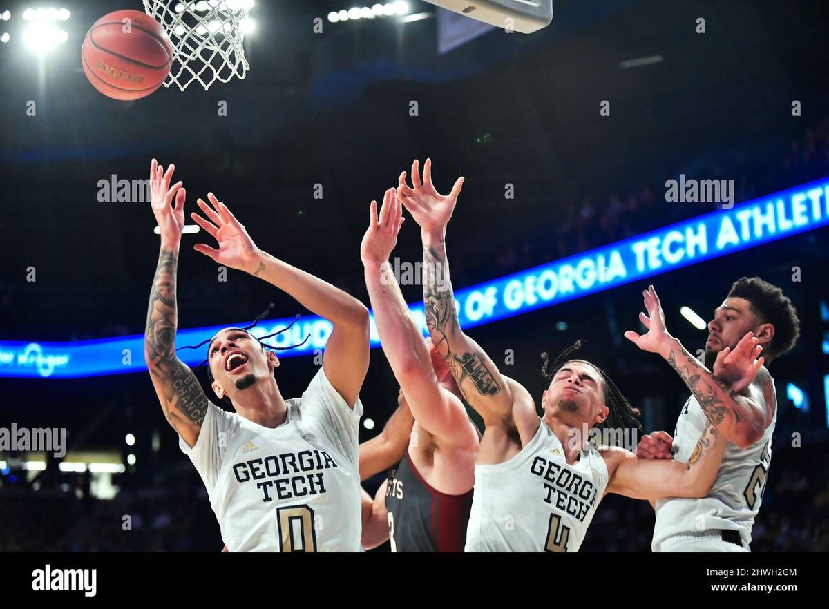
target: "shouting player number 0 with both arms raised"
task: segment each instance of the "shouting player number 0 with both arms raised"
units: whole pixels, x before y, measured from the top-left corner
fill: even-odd
[[[193,220],[219,248],[194,249],[217,263],[263,278],[333,324],[322,367],[301,398],[284,399],[274,378],[279,360],[244,330],[225,328],[207,348],[216,398],[207,399],[178,360],[176,268],[185,191],[172,187],[153,159],[153,214],[161,254],[144,336],[144,357],[167,421],[196,466],[230,552],[360,549],[358,396],[369,356],[368,312],[356,299],[258,249],[230,210],[209,195]],[[174,201],[175,200],[175,201]],[[174,204],[171,205],[174,201]]]

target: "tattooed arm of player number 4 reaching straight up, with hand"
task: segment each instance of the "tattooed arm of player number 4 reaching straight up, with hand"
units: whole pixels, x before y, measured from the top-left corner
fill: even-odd
[[[418,162],[412,165],[412,185],[400,174],[398,196],[420,226],[423,239],[423,295],[429,335],[443,356],[468,404],[481,414],[487,425],[507,422],[521,434],[535,433],[539,419],[530,394],[515,381],[502,376],[495,363],[478,343],[463,333],[446,255],[446,225],[452,217],[463,178],[458,178],[452,191],[440,195],[432,184],[432,162],[426,159],[423,181]]]

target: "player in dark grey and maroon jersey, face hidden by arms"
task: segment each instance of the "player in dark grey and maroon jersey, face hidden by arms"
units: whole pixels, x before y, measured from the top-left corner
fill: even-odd
[[[402,207],[390,188],[379,216],[371,201],[360,251],[381,346],[414,415],[408,450],[377,491],[371,520],[386,524],[392,552],[463,552],[478,429],[443,359],[424,342],[390,270],[402,224]]]

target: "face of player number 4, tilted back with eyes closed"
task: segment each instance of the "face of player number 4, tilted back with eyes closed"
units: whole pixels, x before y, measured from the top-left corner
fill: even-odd
[[[571,360],[553,376],[542,404],[566,423],[592,427],[607,418],[602,375],[585,361]]]

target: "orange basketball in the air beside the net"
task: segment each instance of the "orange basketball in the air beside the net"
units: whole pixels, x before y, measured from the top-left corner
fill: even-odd
[[[152,17],[115,11],[86,32],[80,56],[95,89],[126,101],[145,97],[162,85],[172,65],[172,44]]]

